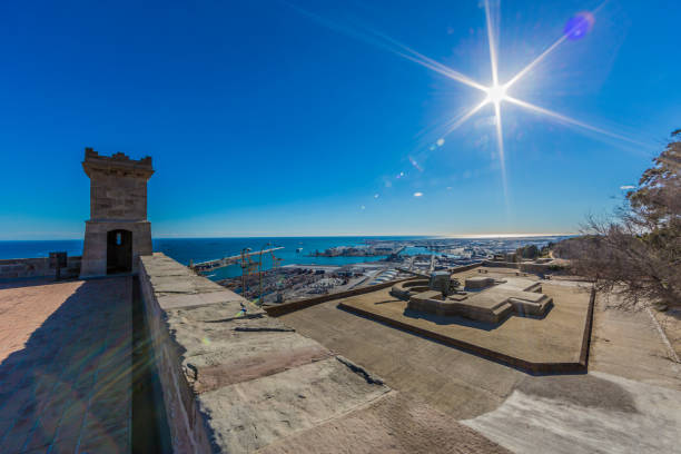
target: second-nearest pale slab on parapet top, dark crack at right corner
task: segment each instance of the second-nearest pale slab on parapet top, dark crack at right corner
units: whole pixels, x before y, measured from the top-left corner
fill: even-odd
[[[246,453],[342,416],[388,391],[330,357],[208,392],[201,403],[224,452]]]

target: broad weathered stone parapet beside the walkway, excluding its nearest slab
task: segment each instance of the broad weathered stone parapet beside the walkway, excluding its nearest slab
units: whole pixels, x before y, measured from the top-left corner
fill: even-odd
[[[174,452],[255,452],[391,391],[171,258],[139,261]]]

